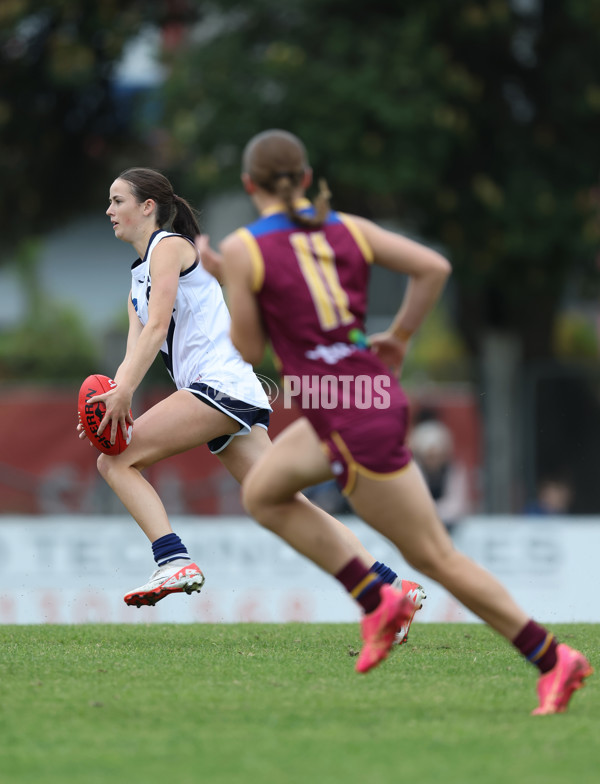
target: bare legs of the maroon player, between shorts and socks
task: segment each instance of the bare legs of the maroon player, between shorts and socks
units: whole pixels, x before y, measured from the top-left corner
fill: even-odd
[[[325,475],[327,466],[308,423],[294,423],[248,474],[244,504],[262,525],[335,574],[352,557],[350,549],[336,544],[334,532],[320,525],[314,507],[298,501],[299,490],[314,483],[315,473]],[[394,542],[415,569],[443,585],[500,634],[513,639],[527,623],[528,616],[498,580],[454,549],[414,463],[393,478],[359,475],[351,501],[359,517]]]

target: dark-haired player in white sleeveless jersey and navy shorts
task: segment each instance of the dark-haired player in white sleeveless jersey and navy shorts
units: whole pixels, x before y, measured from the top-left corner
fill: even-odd
[[[231,343],[221,287],[200,263],[193,242],[200,233],[194,212],[173,192],[169,180],[153,169],[124,171],[110,187],[106,214],[115,237],[132,245],[139,258],[131,270],[129,334],[125,357],[114,376],[116,386],[92,398],[106,405],[98,434],[107,428],[114,443],[118,428],[126,432],[132,423],[134,392],[159,352],[177,387],[136,419],[124,452],[98,458],[100,474],[152,543],[156,571],[145,585],[125,595],[127,604],[139,607],[154,605],[171,593],[199,591],[204,582],[143,469],[207,444],[241,482],[270,446],[271,409],[252,366]],[[85,438],[81,426],[78,430]],[[304,498],[301,503],[310,504]],[[373,570],[375,584],[395,582],[413,601],[414,609],[398,634],[398,641],[404,641],[425,598],[421,586],[400,580],[392,569],[375,561],[338,520],[322,510],[316,514],[321,526],[316,534],[293,527],[283,538],[302,554],[314,552],[315,535],[326,529],[341,552],[350,543],[355,556]],[[307,537],[311,537],[308,544]],[[313,560],[326,569],[325,559]],[[360,596],[354,598],[363,606]]]

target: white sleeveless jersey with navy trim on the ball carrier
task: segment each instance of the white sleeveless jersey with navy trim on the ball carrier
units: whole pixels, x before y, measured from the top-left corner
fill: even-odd
[[[183,235],[155,232],[144,259],[138,259],[131,268],[131,299],[142,325],[148,322],[152,251],[165,237]],[[187,237],[183,239],[193,245]],[[221,286],[198,259],[179,277],[169,333],[161,347],[167,370],[178,389],[194,383],[208,384],[224,395],[271,410],[252,366],[231,342],[229,329],[230,316]]]

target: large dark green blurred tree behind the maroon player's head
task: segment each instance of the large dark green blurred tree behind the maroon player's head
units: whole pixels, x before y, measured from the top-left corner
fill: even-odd
[[[598,289],[600,0],[193,6],[164,86],[191,198],[239,183],[254,133],[289,129],[338,209],[443,244],[470,351],[493,328],[552,353],[571,270]]]

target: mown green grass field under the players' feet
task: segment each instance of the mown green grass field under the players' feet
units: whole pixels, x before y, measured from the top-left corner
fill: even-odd
[[[553,630],[598,669],[599,625]],[[367,675],[359,645],[348,624],[0,627],[0,781],[600,781],[598,675],[531,717],[536,671],[482,625],[415,625]]]

